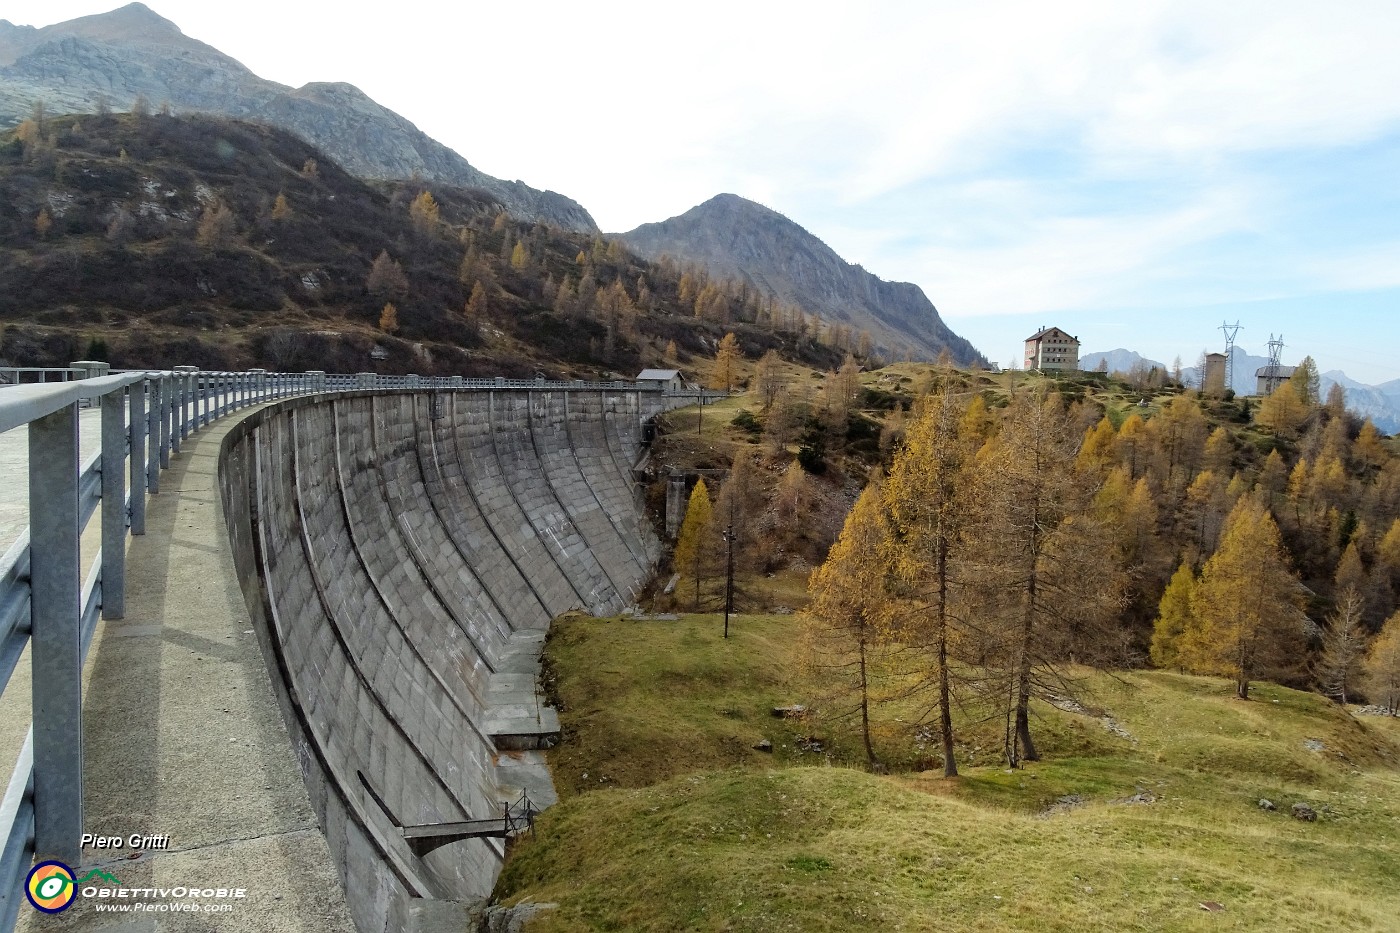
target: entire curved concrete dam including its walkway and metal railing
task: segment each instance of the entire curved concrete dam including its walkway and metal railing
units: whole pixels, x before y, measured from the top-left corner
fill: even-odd
[[[470,382],[0,388],[31,464],[0,560],[0,929],[445,929],[424,904],[490,891],[491,836],[552,800],[543,630],[644,581],[629,468],[685,402]],[[22,888],[50,859],[81,899],[42,918]]]

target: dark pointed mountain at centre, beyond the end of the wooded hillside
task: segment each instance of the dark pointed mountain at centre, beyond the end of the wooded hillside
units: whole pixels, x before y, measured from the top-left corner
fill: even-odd
[[[783,214],[738,195],[717,195],[679,217],[620,235],[650,259],[697,262],[711,275],[745,280],[825,321],[869,331],[888,350],[934,359],[948,347],[963,366],[986,364],[948,329],[918,286],[885,282],[846,262]]]

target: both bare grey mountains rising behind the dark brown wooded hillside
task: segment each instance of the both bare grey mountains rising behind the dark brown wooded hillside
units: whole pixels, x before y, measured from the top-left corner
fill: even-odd
[[[290,130],[360,178],[475,188],[519,220],[598,233],[577,202],[477,171],[358,88],[267,81],[141,3],[43,28],[0,20],[0,126],[20,123],[36,102],[60,115],[127,111],[139,99],[151,109],[169,105],[175,113],[213,113]],[[787,217],[735,195],[718,195],[622,238],[641,256],[669,254],[826,322],[868,331],[886,356],[934,359],[946,347],[965,366],[986,364],[948,329],[918,286],[885,282]]]

